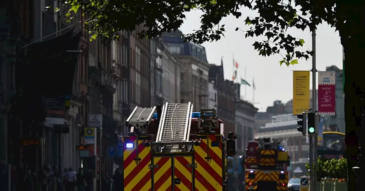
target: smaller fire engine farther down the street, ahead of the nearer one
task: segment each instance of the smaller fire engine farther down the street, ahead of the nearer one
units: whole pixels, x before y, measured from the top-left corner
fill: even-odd
[[[290,156],[278,139],[257,138],[249,141],[245,164],[246,190],[288,190]]]

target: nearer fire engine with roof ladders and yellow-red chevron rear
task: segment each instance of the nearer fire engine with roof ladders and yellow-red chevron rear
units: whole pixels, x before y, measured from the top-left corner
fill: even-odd
[[[223,134],[214,109],[192,112],[193,104],[135,107],[123,137],[124,191],[226,191],[226,157],[237,135]]]

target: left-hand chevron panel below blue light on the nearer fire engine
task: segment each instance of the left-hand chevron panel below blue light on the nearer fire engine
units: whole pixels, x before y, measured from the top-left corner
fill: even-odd
[[[126,138],[126,137],[125,137]],[[138,141],[138,158],[141,160],[137,163],[137,141]],[[124,190],[139,191],[144,190],[146,182],[151,187],[151,170],[149,164],[151,162],[151,147],[145,147],[143,140],[136,140],[136,136],[129,136],[128,143],[134,143],[134,148],[126,148],[124,146]],[[147,189],[148,190],[148,189]]]

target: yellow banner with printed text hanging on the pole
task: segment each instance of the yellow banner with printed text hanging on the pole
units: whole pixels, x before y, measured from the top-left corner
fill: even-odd
[[[309,71],[293,71],[293,115],[310,108]]]

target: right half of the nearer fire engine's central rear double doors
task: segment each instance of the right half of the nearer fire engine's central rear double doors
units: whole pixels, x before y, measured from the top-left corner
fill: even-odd
[[[173,156],[174,190],[193,190],[192,156]]]

